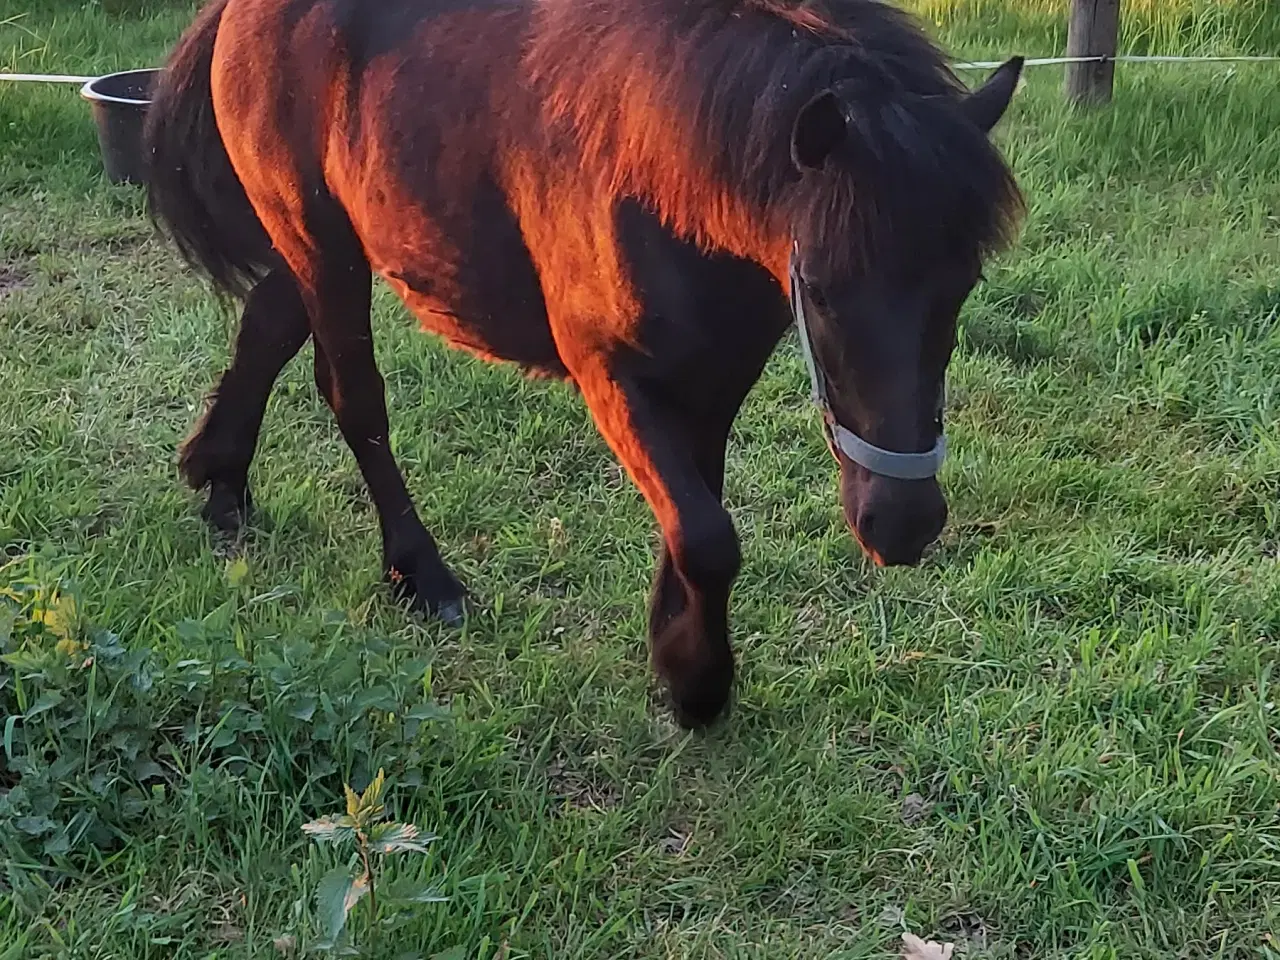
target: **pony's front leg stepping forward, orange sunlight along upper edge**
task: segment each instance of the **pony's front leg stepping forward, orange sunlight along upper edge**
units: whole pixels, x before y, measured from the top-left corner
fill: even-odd
[[[586,362],[575,379],[595,424],[662,526],[664,550],[649,613],[650,655],[677,722],[714,721],[733,684],[728,600],[741,566],[737,531],[721,506],[723,439],[660,389]],[[718,463],[713,462],[718,457]]]

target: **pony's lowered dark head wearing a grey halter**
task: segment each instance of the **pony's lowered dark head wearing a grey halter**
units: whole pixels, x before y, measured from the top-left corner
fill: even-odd
[[[918,563],[946,522],[945,374],[960,307],[1021,207],[988,138],[1021,67],[973,92],[840,81],[795,116],[792,308],[845,517],[879,564]]]

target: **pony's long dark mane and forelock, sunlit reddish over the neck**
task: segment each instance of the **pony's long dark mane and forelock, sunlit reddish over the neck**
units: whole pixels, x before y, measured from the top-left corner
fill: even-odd
[[[887,3],[541,0],[535,20],[527,63],[584,165],[705,246],[804,221],[847,237],[835,261],[940,244],[980,256],[1021,211],[959,109],[964,84]],[[832,88],[855,136],[844,163],[801,178],[792,123]]]

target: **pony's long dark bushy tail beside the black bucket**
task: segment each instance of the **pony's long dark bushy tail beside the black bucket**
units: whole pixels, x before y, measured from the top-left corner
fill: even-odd
[[[214,41],[227,4],[200,10],[160,73],[143,131],[147,207],[191,266],[244,297],[274,255],[214,118]]]

